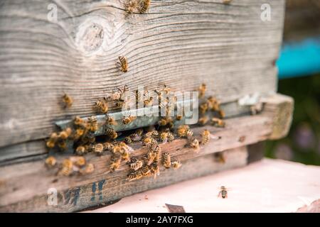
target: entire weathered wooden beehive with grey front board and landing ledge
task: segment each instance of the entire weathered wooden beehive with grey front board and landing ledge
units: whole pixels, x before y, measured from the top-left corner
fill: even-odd
[[[262,21],[264,1],[151,1],[147,13],[128,14],[126,1],[3,1],[0,6],[0,211],[78,211],[146,189],[247,164],[247,145],[282,138],[293,101],[276,94],[284,1],[272,0],[271,21]],[[50,16],[56,7],[57,20]],[[117,57],[129,61],[122,73]],[[44,140],[56,121],[91,116],[92,104],[127,84],[157,89],[163,84],[191,91],[205,82],[227,116],[220,136],[196,154],[185,139],[161,145],[183,166],[156,179],[127,182],[127,165],[106,173],[110,155],[87,155],[95,172],[57,177],[47,170]],[[74,104],[63,109],[63,92]],[[264,108],[250,116],[238,100],[262,96]],[[112,111],[112,108],[111,108]],[[195,128],[199,134],[203,128]],[[225,152],[225,164],[213,153]],[[145,153],[137,147],[134,155]],[[61,160],[63,157],[58,157]],[[49,206],[48,189],[58,190]]]

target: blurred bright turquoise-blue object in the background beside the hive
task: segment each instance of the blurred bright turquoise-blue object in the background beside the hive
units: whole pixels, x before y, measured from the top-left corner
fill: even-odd
[[[320,37],[308,38],[301,43],[284,43],[277,67],[279,79],[320,72]]]

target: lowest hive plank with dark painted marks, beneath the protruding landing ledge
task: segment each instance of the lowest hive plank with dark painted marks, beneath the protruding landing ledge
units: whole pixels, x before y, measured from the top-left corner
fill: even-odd
[[[181,168],[178,170],[161,170],[161,175],[156,179],[149,177],[139,181],[127,182],[127,174],[123,170],[115,174],[114,177],[105,178],[101,176],[102,179],[98,181],[95,178],[88,177],[87,183],[82,182],[81,185],[75,186],[75,182],[73,182],[70,183],[70,188],[68,189],[57,188],[58,204],[56,206],[48,205],[48,187],[43,190],[43,193],[36,194],[31,199],[25,199],[9,206],[0,206],[0,211],[79,211],[90,206],[114,201],[124,196],[144,192],[148,189],[164,187],[186,179],[243,167],[247,164],[247,150],[245,147],[227,150],[224,155],[226,158],[224,164],[217,162],[212,154],[197,157],[193,160],[184,160]]]

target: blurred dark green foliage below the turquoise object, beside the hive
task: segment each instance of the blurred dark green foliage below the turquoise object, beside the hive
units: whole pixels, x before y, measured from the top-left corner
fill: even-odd
[[[278,92],[294,98],[292,127],[286,138],[267,141],[267,157],[320,165],[320,74],[280,79]]]

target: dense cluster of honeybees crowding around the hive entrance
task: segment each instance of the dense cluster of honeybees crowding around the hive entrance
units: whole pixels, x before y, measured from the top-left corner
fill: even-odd
[[[111,154],[110,163],[107,164],[110,172],[117,170],[121,163],[124,162],[129,165],[129,174],[127,175],[129,181],[150,176],[156,178],[160,173],[160,165],[163,165],[166,169],[178,169],[181,167],[180,160],[172,159],[169,153],[161,152],[161,143],[170,143],[175,140],[175,138],[186,138],[186,140],[188,140],[187,145],[198,153],[201,145],[208,144],[210,138],[214,137],[207,129],[201,133],[200,137],[198,136],[196,138],[188,125],[180,125],[178,128],[174,128],[174,122],[181,121],[183,116],[176,116],[176,118],[170,116],[175,106],[170,105],[169,96],[163,96],[171,92],[171,89],[164,85],[162,89],[154,90],[157,94],[156,99],[159,99],[157,100],[159,101],[159,109],[164,108],[166,112],[165,116],[159,118],[156,125],[157,129],[156,126],[138,128],[133,133],[119,138],[117,131],[108,127],[118,124],[118,122],[108,114],[108,104],[109,101],[115,101],[114,106],[116,106],[116,108],[122,108],[122,106],[127,103],[127,100],[124,99],[124,92],[127,91],[129,91],[129,87],[124,85],[122,89],[117,89],[116,92],[107,94],[103,99],[95,102],[92,109],[97,114],[105,114],[104,123],[98,123],[96,116],[90,116],[86,119],[76,116],[72,121],[72,126],[58,133],[52,133],[46,142],[48,148],[66,150],[68,148],[68,141],[72,141],[75,155],[65,158],[60,165],[58,165],[55,157],[50,156],[46,159],[46,165],[50,168],[58,166],[58,175],[86,175],[92,173],[95,167],[92,163],[87,163],[85,155],[87,153],[103,155],[105,152],[108,152]],[[209,121],[207,114],[209,111],[212,111],[215,117],[211,118],[210,123],[213,126],[224,127],[225,123],[222,118],[225,114],[220,109],[220,103],[212,96],[205,98],[206,84],[201,84],[198,88],[198,93],[202,101],[199,105],[201,118],[199,118],[198,124],[206,125]],[[68,96],[68,94],[63,96],[63,100],[65,100],[66,96]],[[136,104],[141,99],[143,99],[144,107],[153,106],[154,104],[154,98],[149,96],[148,92],[142,94],[139,90],[136,90]],[[72,98],[68,96],[68,100],[72,100]],[[136,116],[124,116],[121,119],[121,123],[128,124],[136,118]],[[103,133],[105,141],[97,142],[95,133],[101,127],[105,127]],[[198,138],[201,139],[198,140]],[[142,157],[132,157],[131,154],[134,152],[134,149],[130,147],[132,143],[140,143],[142,147],[147,149],[146,154],[142,155]],[[217,159],[218,158],[219,157],[217,157]],[[220,157],[220,160],[222,159],[223,157]]]

